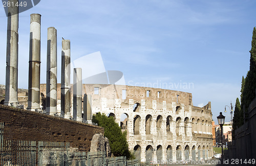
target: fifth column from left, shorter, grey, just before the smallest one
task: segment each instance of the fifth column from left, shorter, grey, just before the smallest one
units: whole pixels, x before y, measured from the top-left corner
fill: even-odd
[[[82,121],[82,68],[74,68],[73,118]]]

